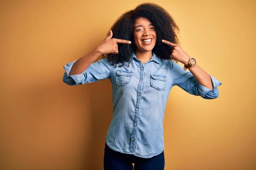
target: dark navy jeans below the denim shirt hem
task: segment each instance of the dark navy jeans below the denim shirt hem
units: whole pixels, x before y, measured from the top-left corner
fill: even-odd
[[[133,170],[132,163],[134,163],[134,170],[163,170],[164,153],[151,158],[140,158],[112,150],[105,143],[104,170]]]

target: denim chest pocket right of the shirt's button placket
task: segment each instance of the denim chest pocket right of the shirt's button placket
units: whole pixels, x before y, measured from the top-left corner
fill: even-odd
[[[151,74],[150,84],[152,87],[158,90],[164,90],[166,88],[167,76],[159,74]]]

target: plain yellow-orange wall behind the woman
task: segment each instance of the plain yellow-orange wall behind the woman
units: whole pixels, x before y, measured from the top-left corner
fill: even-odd
[[[1,170],[103,169],[111,83],[68,86],[63,65],[96,48],[117,17],[143,2],[169,11],[183,50],[222,82],[213,100],[172,88],[165,170],[256,169],[256,1],[3,0]]]

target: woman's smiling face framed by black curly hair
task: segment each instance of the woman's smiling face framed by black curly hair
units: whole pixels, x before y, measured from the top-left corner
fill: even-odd
[[[151,51],[157,41],[154,25],[145,18],[138,18],[134,23],[134,43],[139,51]]]

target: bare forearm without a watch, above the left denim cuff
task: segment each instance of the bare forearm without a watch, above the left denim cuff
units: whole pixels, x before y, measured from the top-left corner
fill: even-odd
[[[81,74],[101,55],[102,54],[99,52],[98,48],[95,48],[93,51],[86,54],[84,57],[81,57],[74,63],[69,75]]]

